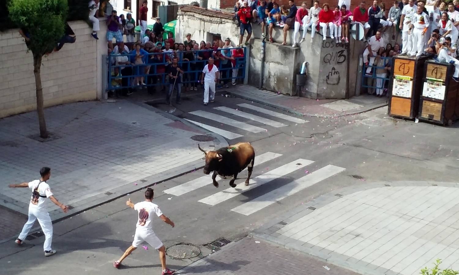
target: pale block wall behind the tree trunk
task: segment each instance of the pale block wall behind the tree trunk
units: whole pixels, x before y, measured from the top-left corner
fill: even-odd
[[[41,81],[45,107],[100,99],[102,55],[107,53],[106,24],[101,19],[99,40],[86,22],[69,22],[73,44],[43,57]],[[0,118],[36,109],[34,60],[17,29],[0,32]]]

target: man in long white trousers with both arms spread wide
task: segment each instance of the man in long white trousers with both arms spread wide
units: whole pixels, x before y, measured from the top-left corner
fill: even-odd
[[[22,228],[21,234],[14,241],[17,244],[21,245],[22,241],[28,235],[30,229],[35,223],[35,220],[38,220],[41,231],[45,233],[45,243],[43,244],[43,249],[45,250],[45,256],[51,256],[56,253],[56,250],[51,249],[51,241],[53,237],[53,224],[51,222],[50,214],[46,211],[45,207],[45,198],[50,198],[50,200],[59,206],[64,213],[67,213],[68,208],[65,204],[60,203],[51,192],[50,186],[46,183],[51,176],[51,168],[43,167],[40,169],[39,180],[34,180],[30,182],[22,182],[21,184],[10,184],[8,187],[17,188],[17,187],[29,187],[32,189],[32,197],[30,198],[29,209],[28,209],[28,220],[24,227]]]

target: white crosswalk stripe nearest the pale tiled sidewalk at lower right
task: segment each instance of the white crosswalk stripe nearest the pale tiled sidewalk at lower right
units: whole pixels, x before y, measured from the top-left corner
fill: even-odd
[[[303,176],[260,197],[254,198],[249,202],[243,203],[231,209],[231,211],[248,216],[344,170],[346,169],[342,167],[327,165],[307,176]]]

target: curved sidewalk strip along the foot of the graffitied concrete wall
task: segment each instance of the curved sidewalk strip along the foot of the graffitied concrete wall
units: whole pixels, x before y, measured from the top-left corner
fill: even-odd
[[[252,100],[297,115],[315,117],[353,115],[387,105],[386,97],[376,98],[374,95],[361,95],[347,100],[319,100],[277,94],[266,90],[260,90],[249,85],[230,87],[227,89],[227,93],[235,97]]]

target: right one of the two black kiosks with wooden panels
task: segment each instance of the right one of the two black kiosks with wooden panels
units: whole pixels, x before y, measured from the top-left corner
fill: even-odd
[[[451,77],[454,66],[425,62],[425,78],[420,96],[420,121],[451,126],[459,118],[459,83]]]

